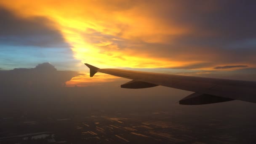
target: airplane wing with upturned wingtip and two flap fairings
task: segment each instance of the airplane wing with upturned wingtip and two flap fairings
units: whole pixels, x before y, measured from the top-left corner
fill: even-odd
[[[168,75],[124,69],[99,69],[90,64],[85,65],[90,68],[90,77],[93,77],[96,72],[102,72],[131,79],[130,82],[121,85],[121,88],[150,88],[162,85],[195,92],[181,99],[179,104],[212,104],[232,100],[256,103],[256,82],[254,81]]]

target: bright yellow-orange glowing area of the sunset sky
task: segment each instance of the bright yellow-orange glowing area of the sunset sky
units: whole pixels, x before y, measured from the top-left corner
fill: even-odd
[[[179,36],[191,31],[176,24],[167,25],[151,16],[149,8],[152,5],[147,5],[146,2],[5,0],[1,3],[16,11],[19,16],[45,16],[56,22],[53,27],[62,32],[72,46],[75,59],[83,63],[98,67],[156,68],[204,62],[161,58],[150,51],[131,48],[133,43],[129,45],[129,41],[165,43],[168,35]],[[117,44],[120,41],[128,44],[120,49]]]

